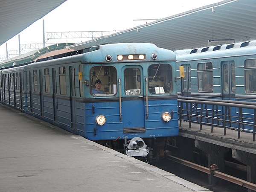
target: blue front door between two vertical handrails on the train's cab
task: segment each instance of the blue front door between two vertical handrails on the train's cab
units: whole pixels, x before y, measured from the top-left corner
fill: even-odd
[[[124,132],[145,128],[145,103],[143,99],[143,70],[140,66],[126,66],[122,70],[123,79],[121,79],[122,91],[122,114]],[[131,105],[132,101],[132,105]],[[143,121],[141,120],[143,119]]]

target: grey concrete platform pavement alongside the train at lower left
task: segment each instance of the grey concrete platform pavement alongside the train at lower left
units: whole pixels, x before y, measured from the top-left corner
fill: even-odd
[[[206,192],[0,104],[0,192]]]

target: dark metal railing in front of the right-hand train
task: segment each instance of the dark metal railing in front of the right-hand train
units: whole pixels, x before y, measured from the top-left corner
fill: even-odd
[[[256,103],[231,101],[220,99],[201,99],[192,97],[178,97],[179,121],[199,123],[199,129],[202,125],[211,126],[213,133],[214,127],[223,128],[224,135],[227,134],[227,128],[236,130],[238,138],[241,137],[241,131],[252,133],[253,141],[256,138]]]

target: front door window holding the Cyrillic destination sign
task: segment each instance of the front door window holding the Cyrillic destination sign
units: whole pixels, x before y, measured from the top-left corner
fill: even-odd
[[[141,84],[140,84],[140,69],[138,68],[127,68],[124,71],[125,78],[125,95],[140,95]]]

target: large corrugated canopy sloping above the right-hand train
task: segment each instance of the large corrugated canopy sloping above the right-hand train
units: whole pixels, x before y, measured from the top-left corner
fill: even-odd
[[[178,50],[207,47],[211,43],[256,39],[256,0],[224,0],[154,22],[77,44],[84,49],[123,42],[153,43]],[[220,40],[218,42],[218,40]]]

